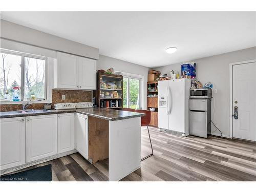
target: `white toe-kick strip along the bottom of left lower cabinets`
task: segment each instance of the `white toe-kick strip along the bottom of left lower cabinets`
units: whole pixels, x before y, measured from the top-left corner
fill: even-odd
[[[37,165],[37,164],[40,164],[40,163],[44,163],[44,162],[47,162],[47,161],[51,161],[53,159],[64,157],[64,156],[67,156],[67,155],[70,155],[70,154],[73,154],[73,153],[77,153],[77,151],[76,150],[72,150],[72,151],[56,154],[56,155],[53,155],[53,156],[50,156],[50,157],[46,157],[46,158],[43,158],[43,159],[35,160],[35,161],[29,162],[29,163],[26,163],[26,164],[23,164],[23,165],[19,165],[19,166],[16,166],[16,167],[11,167],[11,168],[7,168],[7,169],[3,169],[3,170],[1,170],[0,175],[4,175],[4,174],[11,173],[11,172],[15,172],[16,170],[27,168],[27,167],[30,167],[30,166],[33,166],[33,165]]]

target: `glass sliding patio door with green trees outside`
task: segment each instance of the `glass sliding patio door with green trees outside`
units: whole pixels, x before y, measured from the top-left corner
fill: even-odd
[[[123,77],[123,108],[141,109],[141,78]]]

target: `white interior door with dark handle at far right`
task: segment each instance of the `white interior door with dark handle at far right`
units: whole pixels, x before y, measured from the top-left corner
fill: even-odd
[[[256,62],[233,66],[233,137],[256,141]]]

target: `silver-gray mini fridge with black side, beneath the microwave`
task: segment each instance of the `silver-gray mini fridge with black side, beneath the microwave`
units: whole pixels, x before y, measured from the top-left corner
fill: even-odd
[[[207,138],[210,134],[210,98],[189,99],[189,135]]]

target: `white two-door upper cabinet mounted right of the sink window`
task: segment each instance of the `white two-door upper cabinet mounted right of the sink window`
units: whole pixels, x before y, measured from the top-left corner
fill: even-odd
[[[58,52],[54,88],[95,90],[96,60]]]

